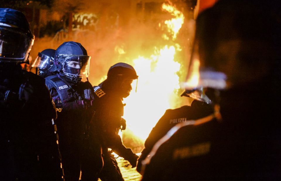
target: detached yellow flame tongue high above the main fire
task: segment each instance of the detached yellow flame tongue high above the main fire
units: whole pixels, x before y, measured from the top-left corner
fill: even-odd
[[[167,3],[162,4],[162,9],[174,16],[171,20],[166,20],[165,24],[168,27],[168,32],[172,34],[172,39],[175,40],[182,24],[184,24],[184,14],[177,10],[176,7]]]

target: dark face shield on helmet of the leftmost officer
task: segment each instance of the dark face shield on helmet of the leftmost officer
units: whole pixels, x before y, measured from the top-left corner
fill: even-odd
[[[0,26],[0,62],[24,62],[33,45],[34,35],[15,27]]]

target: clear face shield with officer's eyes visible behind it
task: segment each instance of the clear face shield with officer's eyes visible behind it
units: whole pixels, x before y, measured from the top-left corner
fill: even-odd
[[[90,56],[86,55],[58,55],[57,59],[63,59],[62,73],[70,77],[83,78],[89,75]]]

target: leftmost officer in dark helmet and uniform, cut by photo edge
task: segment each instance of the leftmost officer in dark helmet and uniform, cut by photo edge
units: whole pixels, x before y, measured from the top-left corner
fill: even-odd
[[[0,8],[0,180],[61,180],[45,80],[21,69],[34,36],[20,11]]]

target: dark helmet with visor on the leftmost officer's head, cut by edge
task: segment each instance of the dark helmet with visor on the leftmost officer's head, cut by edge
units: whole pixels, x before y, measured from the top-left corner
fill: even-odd
[[[34,38],[23,13],[0,8],[0,62],[28,61]]]

